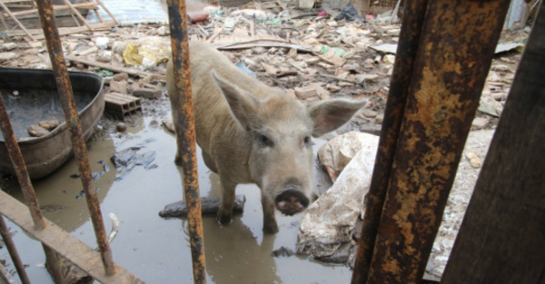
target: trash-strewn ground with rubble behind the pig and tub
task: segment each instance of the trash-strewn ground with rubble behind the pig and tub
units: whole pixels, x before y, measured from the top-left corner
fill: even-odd
[[[202,8],[195,7],[196,10]],[[201,27],[197,24],[189,26],[190,39],[210,41],[234,64],[242,63],[263,82],[282,88],[304,102],[334,97],[367,98],[368,106],[335,134],[349,131],[379,134],[394,55],[378,52],[372,46],[397,44],[399,24],[334,21],[332,17],[339,11],[331,9],[325,9],[329,15],[322,17],[316,16],[321,10],[308,15],[293,10],[294,14],[285,16],[275,9],[278,7],[265,9],[269,15],[263,20],[257,18],[258,15],[234,15],[243,8],[213,12]],[[500,43],[523,44],[528,34],[528,29],[503,31]],[[153,93],[162,91],[159,99],[142,98],[141,115],[127,117],[124,121],[129,128],[141,127],[142,118],[147,123],[146,127],[160,128],[162,120],[170,116],[163,78],[165,62],[170,56],[168,25],[114,26],[93,34],[64,35],[62,41],[65,54],[76,58],[67,60],[69,70],[103,75],[105,93],[153,96]],[[106,41],[105,46],[103,41]],[[15,48],[5,48],[0,53],[3,56],[10,54],[2,57],[8,59],[0,58],[2,67],[51,68],[44,41],[27,42],[22,36],[6,37],[0,41],[1,46],[12,43],[16,44]],[[138,52],[127,52],[127,46],[133,45]],[[146,56],[153,63],[148,60],[146,64],[143,61]],[[520,50],[517,49],[496,54],[493,59],[482,93],[482,107],[476,114],[466,145],[466,152],[475,152],[480,161],[484,160],[519,61]],[[104,68],[104,64],[111,68]],[[112,78],[114,74],[123,72],[128,76]],[[94,140],[104,140],[109,136],[124,142],[134,139],[130,133],[117,132],[118,124],[119,120],[112,113],[105,113]],[[462,159],[426,271],[431,279],[441,278],[478,173],[479,168],[471,166],[470,159]]]

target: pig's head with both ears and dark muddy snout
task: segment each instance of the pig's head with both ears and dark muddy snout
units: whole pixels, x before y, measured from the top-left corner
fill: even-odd
[[[251,137],[249,166],[253,181],[286,215],[304,211],[312,196],[312,140],[332,132],[365,102],[334,99],[305,104],[283,93],[257,99],[213,73],[234,118]]]

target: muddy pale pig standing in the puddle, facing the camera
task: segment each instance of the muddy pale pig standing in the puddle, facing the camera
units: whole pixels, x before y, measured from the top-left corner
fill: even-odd
[[[230,223],[236,185],[255,183],[261,189],[263,231],[276,233],[275,208],[293,215],[311,203],[311,137],[337,129],[366,102],[302,103],[244,73],[209,44],[190,42],[189,53],[196,140],[222,187],[217,219]],[[166,83],[172,99],[172,61]],[[175,119],[180,110],[172,111]]]

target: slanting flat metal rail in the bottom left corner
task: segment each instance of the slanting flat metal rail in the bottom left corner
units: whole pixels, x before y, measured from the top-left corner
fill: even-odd
[[[101,283],[144,283],[119,266],[115,267],[115,275],[104,275],[100,253],[87,247],[82,241],[75,239],[49,220],[44,219],[45,229],[35,230],[25,204],[15,200],[4,191],[0,191],[0,213]]]

